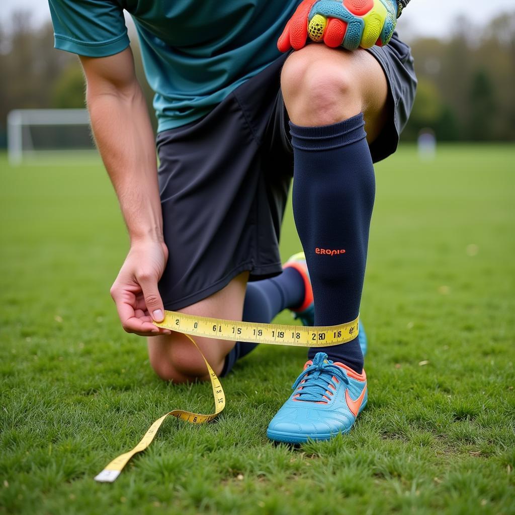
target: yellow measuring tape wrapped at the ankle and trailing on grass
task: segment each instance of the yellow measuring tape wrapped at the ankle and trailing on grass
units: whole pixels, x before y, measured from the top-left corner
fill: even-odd
[[[161,427],[161,424],[169,415],[185,420],[186,422],[191,422],[192,424],[202,424],[213,420],[224,409],[226,404],[224,389],[192,336],[216,338],[220,340],[247,341],[254,344],[289,345],[292,347],[328,347],[345,344],[353,340],[359,332],[358,321],[359,317],[352,322],[339,325],[307,327],[304,325],[238,322],[165,311],[165,319],[162,322],[154,323],[157,327],[185,334],[200,352],[205,366],[209,371],[215,401],[215,411],[210,415],[202,415],[182,409],[174,409],[166,415],[163,415],[149,427],[145,436],[134,449],[114,458],[102,472],[95,476],[95,480],[101,483],[112,483],[120,475],[132,456],[144,451],[150,445]]]

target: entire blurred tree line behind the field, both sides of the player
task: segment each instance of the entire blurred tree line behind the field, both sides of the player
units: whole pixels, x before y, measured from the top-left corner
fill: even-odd
[[[500,15],[479,32],[465,19],[454,26],[459,28],[448,39],[410,41],[419,88],[403,140],[415,140],[420,129],[431,128],[440,141],[514,141],[515,12]],[[138,39],[130,36],[152,112]],[[78,59],[53,45],[52,25],[35,28],[29,12],[16,12],[0,26],[0,147],[11,109],[84,107]]]

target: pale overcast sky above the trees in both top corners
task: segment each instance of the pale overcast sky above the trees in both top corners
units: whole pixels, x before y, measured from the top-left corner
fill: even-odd
[[[37,23],[50,18],[46,0],[0,1],[1,22],[5,22],[13,10],[21,8],[29,9]],[[410,35],[445,36],[459,14],[465,14],[473,23],[481,24],[506,10],[515,10],[514,0],[411,0],[399,21],[399,29],[402,32],[403,27],[407,28]]]

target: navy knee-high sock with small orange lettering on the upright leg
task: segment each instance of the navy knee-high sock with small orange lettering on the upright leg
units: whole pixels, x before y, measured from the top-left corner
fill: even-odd
[[[354,320],[365,277],[375,194],[363,114],[322,127],[290,122],[294,147],[293,209],[310,271],[315,325]],[[363,354],[357,337],[347,344],[311,348],[358,373]]]

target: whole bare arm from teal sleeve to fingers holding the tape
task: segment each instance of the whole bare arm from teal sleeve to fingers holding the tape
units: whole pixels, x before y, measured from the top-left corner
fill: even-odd
[[[131,242],[111,295],[127,332],[159,334],[151,321],[163,319],[157,283],[168,251],[163,242],[156,149],[132,52],[127,48],[114,56],[80,60],[95,141]]]

